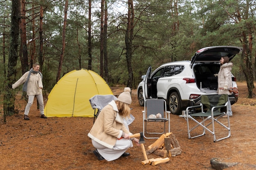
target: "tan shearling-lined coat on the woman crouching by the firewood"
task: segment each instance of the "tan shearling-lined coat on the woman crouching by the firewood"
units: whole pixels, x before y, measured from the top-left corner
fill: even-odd
[[[112,149],[116,141],[121,137],[123,131],[132,135],[124,126],[124,118],[119,115],[117,105],[114,100],[105,106],[97,117],[88,137],[99,144]]]

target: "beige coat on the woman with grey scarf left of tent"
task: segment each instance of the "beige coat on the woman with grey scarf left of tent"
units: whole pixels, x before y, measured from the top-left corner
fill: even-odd
[[[20,79],[12,85],[12,88],[13,89],[17,88],[18,86],[20,86],[20,84],[25,83],[27,80],[28,74],[29,74],[29,71],[27,71],[24,75],[22,75],[22,77],[20,77]],[[31,73],[29,77],[29,81],[27,83],[27,95],[30,96],[30,95],[42,94],[42,89],[40,89],[39,87],[43,88],[41,75],[39,73],[37,74]]]

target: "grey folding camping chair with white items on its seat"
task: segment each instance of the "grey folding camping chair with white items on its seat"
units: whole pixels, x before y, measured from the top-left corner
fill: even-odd
[[[143,113],[143,135],[148,139],[158,139],[159,137],[146,137],[145,133],[148,134],[163,134],[165,132],[165,123],[168,121],[168,132],[170,132],[170,111],[166,110],[166,101],[164,99],[146,99],[144,103]],[[152,115],[161,114],[162,118],[154,118]],[[167,117],[168,113],[168,117]],[[150,116],[151,115],[151,116]],[[164,130],[163,132],[159,132],[156,130],[155,126],[153,126],[153,130],[147,130],[147,123],[149,122],[164,122]],[[150,123],[151,124],[151,123]],[[152,127],[152,126],[151,126]]]

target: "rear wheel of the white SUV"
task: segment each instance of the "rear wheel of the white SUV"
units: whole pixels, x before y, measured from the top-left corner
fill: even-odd
[[[171,93],[168,99],[168,106],[173,115],[180,115],[181,103],[177,92]]]

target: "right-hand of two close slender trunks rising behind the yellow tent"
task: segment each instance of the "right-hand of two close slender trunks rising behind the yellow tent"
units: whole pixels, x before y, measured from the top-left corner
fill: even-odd
[[[104,73],[105,81],[108,83],[108,52],[107,52],[107,29],[108,29],[108,2],[105,0],[104,8]]]

